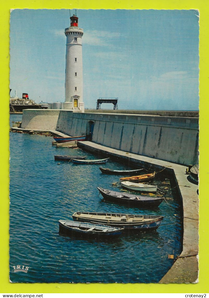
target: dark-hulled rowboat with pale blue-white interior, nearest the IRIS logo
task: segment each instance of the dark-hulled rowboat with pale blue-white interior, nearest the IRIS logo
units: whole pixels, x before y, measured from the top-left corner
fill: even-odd
[[[117,236],[123,232],[123,228],[104,226],[77,221],[59,220],[59,232],[69,235],[80,235],[88,237],[110,237]]]

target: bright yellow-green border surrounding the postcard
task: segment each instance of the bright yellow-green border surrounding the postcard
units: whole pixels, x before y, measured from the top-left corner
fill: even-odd
[[[208,2],[209,3],[209,2]],[[8,0],[0,4],[1,63],[1,293],[208,293],[209,4],[205,0]],[[21,284],[9,282],[9,20],[10,9],[198,9],[200,12],[200,224],[196,284]]]

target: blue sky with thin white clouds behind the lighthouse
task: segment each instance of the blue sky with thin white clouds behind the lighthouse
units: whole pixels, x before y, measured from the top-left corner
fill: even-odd
[[[11,95],[64,102],[69,16],[64,9],[11,12]],[[77,10],[77,16],[85,108],[96,108],[99,97],[118,97],[119,109],[199,109],[198,11]]]

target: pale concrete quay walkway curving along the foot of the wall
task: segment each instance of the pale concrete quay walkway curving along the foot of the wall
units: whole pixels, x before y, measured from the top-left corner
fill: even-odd
[[[177,186],[183,209],[183,249],[173,266],[159,283],[196,283],[198,282],[198,227],[199,197],[198,186],[188,181],[186,166],[112,149],[93,142],[78,142],[78,147],[96,154],[120,159],[127,164],[163,170],[169,174]]]

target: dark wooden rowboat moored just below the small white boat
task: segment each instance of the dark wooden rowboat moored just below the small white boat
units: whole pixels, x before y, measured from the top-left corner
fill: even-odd
[[[154,208],[159,206],[163,198],[154,198],[154,197],[145,197],[141,195],[133,195],[130,193],[120,193],[117,191],[105,189],[102,187],[97,187],[101,195],[103,196],[104,199],[109,200],[109,201],[115,201],[117,203],[124,203],[124,204],[129,204],[130,206],[138,206],[138,207],[150,207]]]

